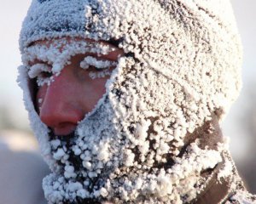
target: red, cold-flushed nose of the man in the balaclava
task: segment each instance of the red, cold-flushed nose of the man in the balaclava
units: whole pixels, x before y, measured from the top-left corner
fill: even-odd
[[[50,127],[55,135],[72,133],[78,122],[84,117],[84,111],[76,99],[77,89],[65,71],[48,85],[39,88],[37,101],[42,122]]]

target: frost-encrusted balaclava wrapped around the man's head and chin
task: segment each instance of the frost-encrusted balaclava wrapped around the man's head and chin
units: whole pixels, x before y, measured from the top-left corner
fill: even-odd
[[[37,68],[27,63],[35,52],[59,73],[90,48],[74,41],[65,53],[45,53],[32,44],[61,37],[114,42],[125,52],[68,141],[51,138],[40,121],[29,86]],[[223,160],[222,144],[202,149],[195,140],[181,150],[185,136],[214,111],[223,116],[241,88],[228,0],[33,0],[20,51],[26,109],[53,171],[43,184],[49,203],[186,203],[204,186],[201,173]]]

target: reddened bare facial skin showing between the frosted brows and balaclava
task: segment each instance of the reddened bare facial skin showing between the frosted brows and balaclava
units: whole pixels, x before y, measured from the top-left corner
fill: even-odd
[[[36,109],[42,122],[47,125],[56,136],[65,136],[72,133],[78,122],[84,116],[92,111],[97,101],[102,98],[106,92],[105,84],[109,78],[105,77],[90,77],[90,72],[100,72],[96,67],[90,66],[88,69],[82,69],[81,61],[85,57],[91,56],[97,60],[117,62],[119,57],[123,55],[123,51],[115,48],[108,42],[95,42],[89,39],[76,38],[76,42],[84,41],[100,43],[113,48],[108,54],[75,54],[69,60],[70,63],[64,65],[59,75],[49,72],[42,72],[43,77],[52,77],[49,84],[38,86],[36,93]],[[44,40],[35,42],[33,45],[46,45],[49,48],[54,44],[55,40]],[[66,43],[72,43],[66,38]],[[58,47],[62,51],[62,46]],[[44,63],[39,60],[34,60],[30,64]],[[50,66],[50,65],[49,65]],[[112,71],[114,66],[108,67]],[[51,69],[51,68],[50,68]]]

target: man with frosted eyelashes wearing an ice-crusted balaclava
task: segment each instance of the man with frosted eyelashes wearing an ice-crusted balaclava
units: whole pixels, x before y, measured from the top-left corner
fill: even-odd
[[[49,203],[255,203],[219,125],[241,89],[228,0],[33,0],[20,52]]]

